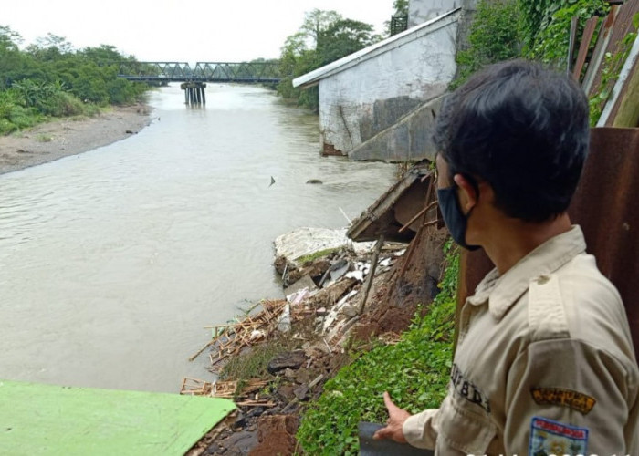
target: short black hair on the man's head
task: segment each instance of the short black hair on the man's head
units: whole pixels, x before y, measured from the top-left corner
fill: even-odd
[[[451,175],[487,181],[506,215],[543,222],[571,202],[588,154],[588,114],[569,76],[512,60],[445,98],[433,140]]]

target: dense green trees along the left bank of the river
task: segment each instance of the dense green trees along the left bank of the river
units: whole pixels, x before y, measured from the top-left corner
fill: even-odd
[[[47,35],[24,50],[22,37],[0,26],[0,134],[51,117],[93,115],[100,107],[141,99],[149,86],[118,78],[116,62],[135,61],[115,47],[74,50],[63,37]]]

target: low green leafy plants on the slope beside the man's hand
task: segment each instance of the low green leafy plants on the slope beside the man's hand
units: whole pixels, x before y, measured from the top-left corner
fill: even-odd
[[[416,413],[445,397],[452,366],[459,255],[445,245],[447,266],[441,292],[420,311],[396,345],[381,343],[342,368],[302,417],[297,438],[309,454],[357,454],[357,423],[388,419],[382,393]]]

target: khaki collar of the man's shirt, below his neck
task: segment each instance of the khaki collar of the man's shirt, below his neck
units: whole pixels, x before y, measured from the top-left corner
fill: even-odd
[[[573,225],[571,230],[550,238],[521,258],[504,275],[499,276],[497,269],[490,271],[467,302],[473,306],[488,302],[488,310],[500,320],[528,290],[531,279],[555,272],[585,250],[581,228]]]

